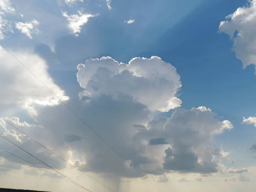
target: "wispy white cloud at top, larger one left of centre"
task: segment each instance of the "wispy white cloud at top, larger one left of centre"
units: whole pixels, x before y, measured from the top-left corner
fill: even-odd
[[[73,33],[80,33],[81,27],[88,22],[90,17],[99,16],[99,14],[92,15],[92,14],[83,13],[83,11],[78,11],[76,15],[67,15],[67,12],[63,12],[62,15],[67,18],[67,21],[68,21],[67,27]]]

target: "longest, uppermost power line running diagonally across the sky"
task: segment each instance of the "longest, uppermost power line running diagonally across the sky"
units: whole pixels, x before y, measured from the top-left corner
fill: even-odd
[[[30,71],[9,49],[7,49],[7,47],[5,47],[2,42],[0,42],[0,44],[8,51],[11,53],[11,55],[13,57],[15,57],[17,59],[17,61],[20,62],[20,64],[23,65],[23,67],[26,68],[26,70],[28,70],[38,81],[41,82],[41,84],[44,85],[44,87],[46,87],[63,105],[65,105],[78,119],[80,119],[81,122],[84,123],[84,125],[86,125],[88,128],[90,128],[91,131],[93,131],[94,134],[96,134],[106,145],[108,145],[109,148],[111,148],[116,154],[119,155],[119,157],[121,157],[123,160],[125,160],[126,163],[128,163],[128,165],[130,165],[132,168],[134,168],[141,176],[145,177],[138,169],[136,169],[134,166],[131,165],[131,163],[128,162],[128,160],[126,160],[121,154],[119,154],[114,148],[111,147],[111,145],[109,145],[102,137],[100,137],[100,135],[98,133],[96,133],[96,131],[93,130],[93,128],[91,128],[89,125],[87,125],[70,107],[68,107],[55,93],[52,92],[52,90],[49,89],[49,87],[47,87],[46,84],[44,84],[40,79],[38,79],[37,76],[35,76],[34,73],[32,73],[32,71]],[[151,183],[147,178],[145,178],[151,185],[153,185],[158,191],[161,192],[160,189],[157,188],[157,186],[155,186],[153,183]]]

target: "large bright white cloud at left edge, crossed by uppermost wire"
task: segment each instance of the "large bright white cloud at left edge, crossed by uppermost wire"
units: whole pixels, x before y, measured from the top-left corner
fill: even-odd
[[[53,83],[47,72],[47,64],[38,55],[30,52],[13,52],[26,67],[35,74],[44,84],[63,100],[64,95],[56,84]],[[0,47],[0,109],[6,110],[19,106],[34,113],[32,106],[58,105],[57,98],[44,87],[35,77],[23,67],[9,52]]]

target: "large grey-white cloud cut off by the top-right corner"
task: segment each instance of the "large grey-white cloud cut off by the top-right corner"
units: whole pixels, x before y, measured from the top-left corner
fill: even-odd
[[[248,6],[239,7],[236,12],[221,21],[219,30],[233,39],[236,58],[243,68],[256,65],[256,0],[249,0]]]

